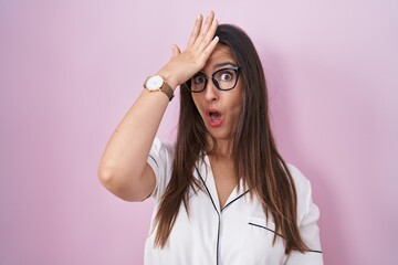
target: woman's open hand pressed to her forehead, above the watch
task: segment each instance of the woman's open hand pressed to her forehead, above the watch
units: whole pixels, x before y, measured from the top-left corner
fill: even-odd
[[[213,12],[210,12],[205,23],[202,15],[199,14],[189,36],[187,49],[180,52],[176,44],[171,46],[172,56],[158,74],[172,88],[189,80],[205,66],[219,41],[214,36],[217,26],[218,21],[214,19]]]

